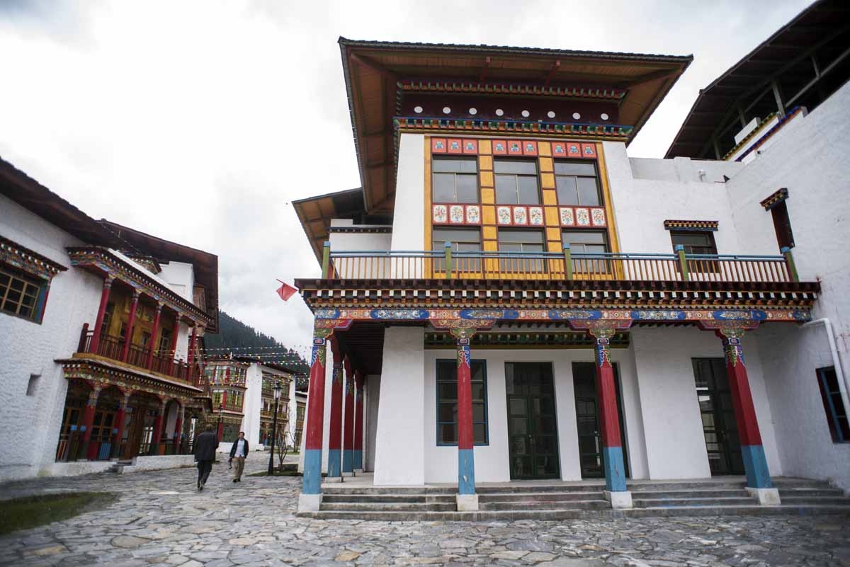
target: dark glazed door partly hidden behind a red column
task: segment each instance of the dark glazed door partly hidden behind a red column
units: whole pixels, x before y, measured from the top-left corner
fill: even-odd
[[[596,391],[596,363],[573,362],[575,388],[575,422],[579,435],[579,463],[582,479],[604,478],[602,434],[599,427],[599,396]],[[620,418],[620,439],[626,442],[623,421],[623,402],[620,396],[620,373],[614,366],[614,389],[617,393],[617,416]],[[623,451],[623,467],[629,476],[628,452]]]

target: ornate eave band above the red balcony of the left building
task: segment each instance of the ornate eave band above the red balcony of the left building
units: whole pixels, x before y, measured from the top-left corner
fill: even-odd
[[[201,311],[195,304],[180,297],[171,289],[167,289],[141,268],[131,266],[126,261],[111,254],[110,250],[99,246],[74,247],[67,250],[71,258],[71,266],[94,267],[100,272],[122,280],[144,295],[149,295],[154,300],[161,301],[169,309],[184,313],[198,323],[206,325],[210,322],[207,313]]]

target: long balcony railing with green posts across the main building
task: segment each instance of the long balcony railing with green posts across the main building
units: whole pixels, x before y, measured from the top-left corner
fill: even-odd
[[[553,252],[329,252],[326,279],[541,279],[777,283],[796,281],[785,255]]]

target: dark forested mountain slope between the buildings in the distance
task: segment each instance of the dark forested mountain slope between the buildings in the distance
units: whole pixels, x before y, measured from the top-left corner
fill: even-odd
[[[277,362],[298,373],[309,373],[303,356],[275,340],[275,337],[259,333],[257,329],[221,310],[218,311],[218,334],[205,334],[204,346],[207,356],[222,356],[228,352],[234,355],[256,355],[263,361]]]

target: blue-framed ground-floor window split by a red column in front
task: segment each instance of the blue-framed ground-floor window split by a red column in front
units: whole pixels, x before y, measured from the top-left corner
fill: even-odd
[[[483,360],[470,362],[473,390],[473,441],[488,444],[487,367]],[[457,361],[437,361],[437,444],[457,445]]]

